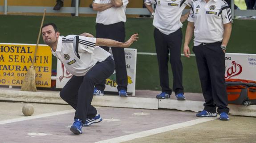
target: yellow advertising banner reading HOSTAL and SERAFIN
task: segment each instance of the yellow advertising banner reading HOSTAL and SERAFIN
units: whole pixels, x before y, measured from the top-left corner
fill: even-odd
[[[35,48],[36,44],[0,43],[0,85],[22,85]],[[37,87],[51,87],[52,53],[49,46],[38,45],[34,67]]]

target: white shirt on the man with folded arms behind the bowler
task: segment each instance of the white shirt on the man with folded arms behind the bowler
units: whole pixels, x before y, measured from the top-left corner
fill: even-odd
[[[104,11],[97,13],[96,23],[98,24],[115,24],[118,22],[126,22],[126,6],[129,3],[128,0],[122,0],[123,5],[119,8],[112,7]],[[93,3],[96,4],[109,4],[111,0],[93,0]]]

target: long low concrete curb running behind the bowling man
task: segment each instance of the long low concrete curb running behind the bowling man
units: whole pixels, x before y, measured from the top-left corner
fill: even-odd
[[[0,90],[0,100],[35,102],[35,103],[57,103],[67,104],[59,96],[59,91],[53,92],[30,92],[18,90]],[[156,99],[143,97],[119,97],[118,95],[94,96],[92,105],[105,107],[127,107],[141,109],[176,109],[181,111],[201,111],[202,101],[178,101],[175,99]],[[242,105],[228,105],[230,114],[256,117],[256,105],[248,107]]]

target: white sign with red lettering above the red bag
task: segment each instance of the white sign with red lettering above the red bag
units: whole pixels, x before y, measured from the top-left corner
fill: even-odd
[[[226,53],[225,79],[256,81],[256,54]]]

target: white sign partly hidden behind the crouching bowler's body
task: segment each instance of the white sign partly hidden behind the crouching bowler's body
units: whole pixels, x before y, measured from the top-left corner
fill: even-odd
[[[128,86],[127,92],[135,95],[135,79],[136,79],[136,62],[137,62],[137,49],[125,48],[125,58],[126,58],[126,70],[128,76]],[[111,54],[111,48],[109,51]],[[112,55],[111,55],[112,56]],[[113,56],[112,56],[113,57]],[[57,79],[56,79],[56,88],[63,88],[64,85],[72,77],[60,60],[57,61]],[[106,88],[104,91],[118,91],[116,83],[116,74],[115,72],[108,79],[106,79]]]

